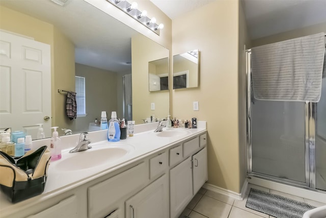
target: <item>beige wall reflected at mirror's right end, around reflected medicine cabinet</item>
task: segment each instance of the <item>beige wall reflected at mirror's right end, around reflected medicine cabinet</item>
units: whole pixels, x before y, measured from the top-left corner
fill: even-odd
[[[136,124],[151,115],[166,118],[170,113],[169,90],[149,91],[148,62],[169,56],[169,50],[139,34],[131,39],[132,115]],[[155,103],[155,110],[151,110]]]

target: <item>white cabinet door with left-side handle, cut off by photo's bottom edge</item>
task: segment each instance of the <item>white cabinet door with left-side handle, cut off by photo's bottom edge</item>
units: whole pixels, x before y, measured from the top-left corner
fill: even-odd
[[[127,218],[169,217],[169,177],[165,174],[126,201]]]

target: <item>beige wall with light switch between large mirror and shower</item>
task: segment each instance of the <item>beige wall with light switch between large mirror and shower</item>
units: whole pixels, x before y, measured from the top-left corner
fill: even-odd
[[[173,20],[173,54],[198,48],[200,80],[198,88],[173,90],[172,111],[180,119],[207,120],[208,183],[239,193],[246,154],[239,134],[245,100],[239,100],[238,12],[238,1],[214,1]],[[193,101],[199,102],[199,111],[193,111]]]

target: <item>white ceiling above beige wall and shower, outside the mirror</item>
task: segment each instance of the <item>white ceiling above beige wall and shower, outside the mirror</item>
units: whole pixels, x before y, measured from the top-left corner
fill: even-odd
[[[173,20],[203,5],[222,0],[150,1]],[[240,0],[240,2],[246,14],[251,39],[326,22],[326,0]]]

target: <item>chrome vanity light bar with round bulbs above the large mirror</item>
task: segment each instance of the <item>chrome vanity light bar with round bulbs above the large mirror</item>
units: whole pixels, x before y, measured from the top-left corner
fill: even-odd
[[[138,4],[135,2],[130,4],[126,0],[106,0],[106,1],[110,2],[114,6],[116,6],[123,12],[125,12],[126,14],[131,16],[133,19],[139,21],[140,23],[142,23],[142,25],[144,25],[145,27],[147,27],[148,29],[150,29],[151,31],[156,33],[157,35],[159,35],[160,30],[164,28],[164,25],[162,23],[160,23],[159,25],[156,24],[155,17],[152,17],[152,18],[147,17],[147,11],[138,10],[137,9]]]

